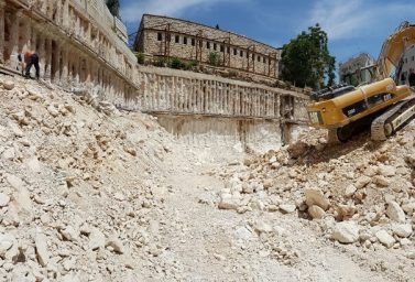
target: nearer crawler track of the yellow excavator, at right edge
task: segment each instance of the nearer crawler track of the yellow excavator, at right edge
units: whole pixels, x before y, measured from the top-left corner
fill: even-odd
[[[372,121],[371,139],[384,141],[415,116],[415,96],[411,96]]]

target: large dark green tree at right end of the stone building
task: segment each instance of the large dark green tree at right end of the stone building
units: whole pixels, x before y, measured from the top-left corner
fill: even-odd
[[[318,23],[283,46],[282,78],[314,89],[335,83],[336,58],[327,47],[327,33]]]

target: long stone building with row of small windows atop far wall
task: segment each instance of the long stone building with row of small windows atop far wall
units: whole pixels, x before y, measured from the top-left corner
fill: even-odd
[[[133,46],[155,57],[178,57],[209,63],[217,53],[219,65],[250,75],[277,78],[281,50],[232,32],[207,25],[144,14]]]

